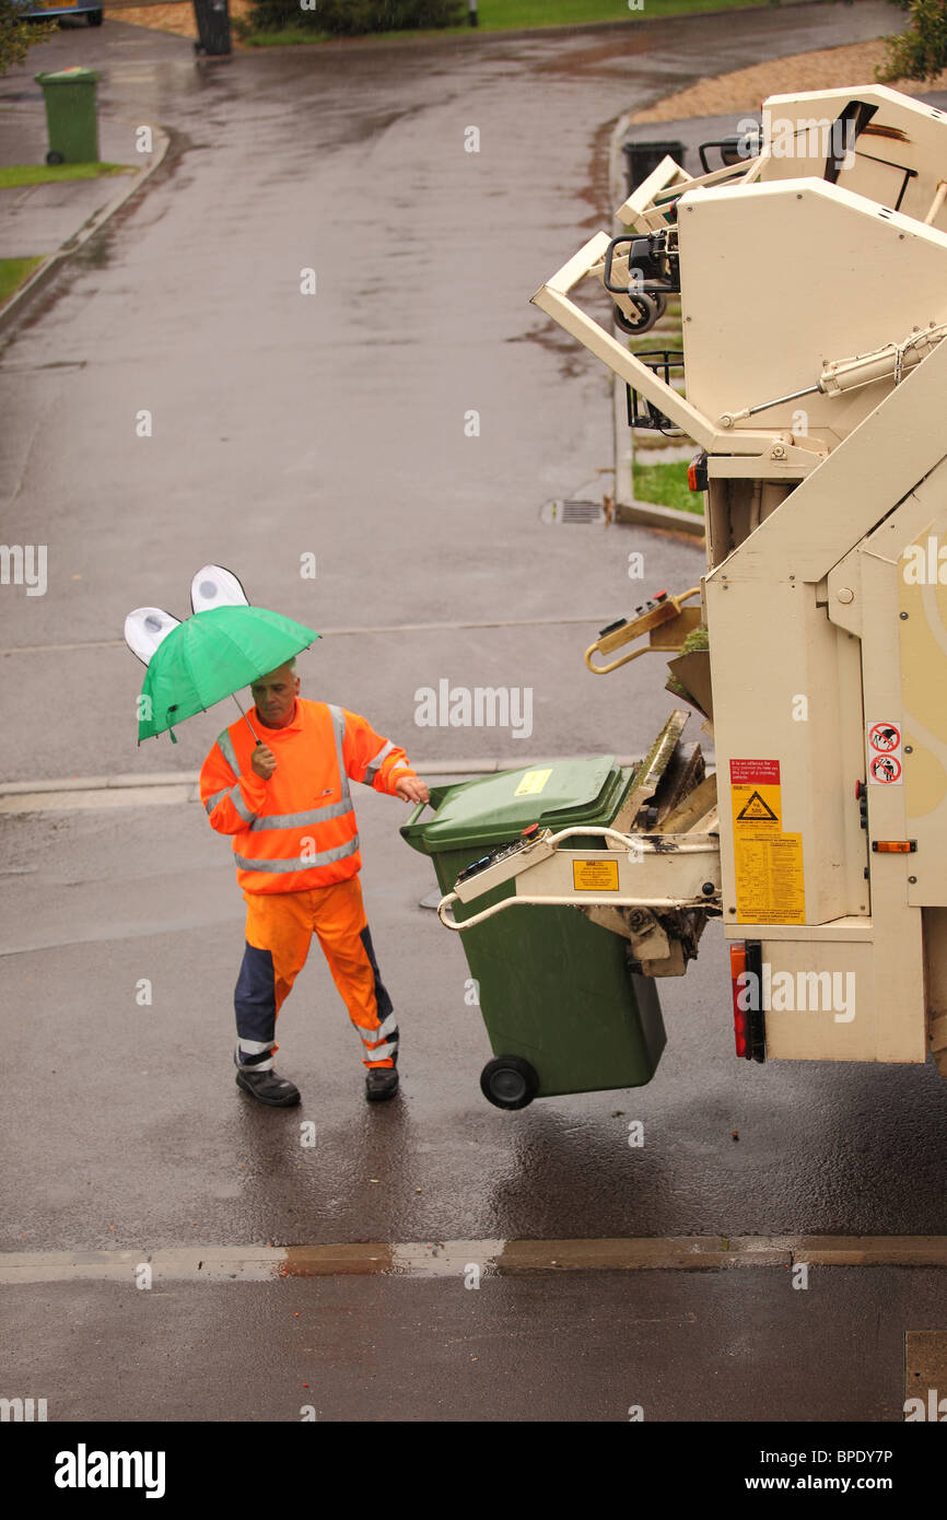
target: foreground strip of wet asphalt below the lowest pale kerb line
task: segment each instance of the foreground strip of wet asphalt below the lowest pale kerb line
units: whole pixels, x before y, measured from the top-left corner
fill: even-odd
[[[809,1447],[819,1439],[812,1421],[898,1421],[903,1327],[944,1322],[942,1271],[897,1268],[816,1269],[807,1292],[793,1292],[786,1271],[739,1268],[529,1274],[483,1281],[477,1292],[459,1277],[334,1277],[150,1292],[131,1281],[55,1283],[5,1294],[20,1325],[5,1385],[43,1388],[50,1421],[298,1423],[309,1406],[333,1424],[628,1423],[637,1406],[645,1432],[632,1444],[629,1430],[625,1450],[641,1464],[638,1485],[654,1480],[658,1456],[679,1461],[681,1441],[693,1441],[655,1430],[655,1421],[745,1427],[727,1459],[717,1446],[717,1493],[755,1456],[748,1420],[801,1421],[809,1433],[797,1439]],[[906,1477],[923,1471],[921,1455],[933,1468],[941,1450],[941,1432],[929,1432],[926,1452],[924,1432],[914,1433]],[[85,1435],[103,1441],[96,1426]],[[302,1473],[313,1452],[325,1459],[336,1450],[336,1438],[298,1435]],[[857,1444],[873,1449],[891,1439],[873,1427],[865,1438]],[[778,1429],[765,1433],[766,1446],[781,1439]],[[835,1446],[853,1439],[839,1430]],[[228,1444],[201,1433],[195,1450],[220,1458]],[[237,1442],[230,1452],[239,1462]],[[690,1455],[657,1474],[698,1497],[711,1471],[696,1461],[699,1447]]]

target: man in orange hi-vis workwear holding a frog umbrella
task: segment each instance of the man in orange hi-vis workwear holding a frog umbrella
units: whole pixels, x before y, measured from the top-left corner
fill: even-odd
[[[302,970],[313,933],[363,1044],[369,1102],[398,1090],[398,1024],[371,942],[350,778],[406,803],[427,787],[407,755],[357,713],[299,696],[295,660],[251,686],[257,745],[242,717],[201,771],[211,827],[234,836],[246,901],[237,979],[237,1085],[289,1108],[299,1090],[274,1069],[277,1014]],[[251,713],[251,720],[254,714]]]

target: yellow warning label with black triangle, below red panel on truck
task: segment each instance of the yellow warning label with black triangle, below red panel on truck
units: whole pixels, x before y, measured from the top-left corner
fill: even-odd
[[[731,786],[737,918],[745,924],[804,924],[803,836],[784,834],[780,787]]]

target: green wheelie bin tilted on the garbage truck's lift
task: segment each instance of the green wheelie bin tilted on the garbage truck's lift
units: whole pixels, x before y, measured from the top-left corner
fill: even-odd
[[[435,816],[418,807],[403,825],[412,848],[429,854],[441,891],[488,851],[514,844],[531,824],[553,830],[608,827],[628,796],[634,769],[614,755],[556,760],[430,790]],[[567,848],[602,850],[594,834]],[[458,923],[515,895],[514,882],[471,903],[454,903]],[[447,930],[445,930],[447,932]],[[459,933],[494,1052],[480,1087],[499,1108],[534,1097],[641,1087],[664,1049],[654,979],[631,970],[631,942],[564,906],[523,904]]]

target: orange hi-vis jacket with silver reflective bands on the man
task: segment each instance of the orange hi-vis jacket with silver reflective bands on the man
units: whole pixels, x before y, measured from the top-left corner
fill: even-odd
[[[306,892],[347,882],[362,866],[348,780],[394,793],[413,775],[403,749],[357,713],[296,698],[286,728],[254,725],[277,758],[269,781],[251,766],[255,740],[239,717],[217,737],[201,769],[201,801],[211,827],[234,834],[245,892]]]

